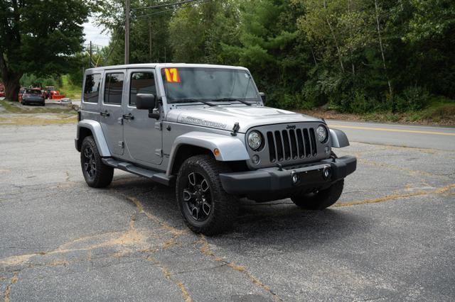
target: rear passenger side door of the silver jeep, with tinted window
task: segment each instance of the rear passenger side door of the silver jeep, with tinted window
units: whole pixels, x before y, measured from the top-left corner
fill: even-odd
[[[124,91],[123,70],[107,70],[100,112],[100,123],[107,146],[113,155],[123,155],[122,99]]]

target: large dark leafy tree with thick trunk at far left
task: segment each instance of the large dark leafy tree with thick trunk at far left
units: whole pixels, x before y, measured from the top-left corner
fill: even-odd
[[[57,74],[73,65],[88,13],[83,0],[0,1],[0,69],[7,99],[17,99],[24,73]]]

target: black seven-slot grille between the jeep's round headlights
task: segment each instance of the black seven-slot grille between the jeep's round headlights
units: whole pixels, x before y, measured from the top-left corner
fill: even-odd
[[[318,155],[314,128],[267,131],[270,162]]]

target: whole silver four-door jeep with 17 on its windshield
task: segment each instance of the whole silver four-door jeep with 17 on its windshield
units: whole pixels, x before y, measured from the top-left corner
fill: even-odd
[[[191,230],[230,228],[238,198],[336,203],[355,157],[319,118],[264,106],[248,69],[141,64],[87,69],[75,147],[85,181],[108,186],[114,168],[175,185]]]

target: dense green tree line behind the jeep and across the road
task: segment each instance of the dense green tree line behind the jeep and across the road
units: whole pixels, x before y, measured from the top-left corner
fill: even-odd
[[[108,64],[123,61],[123,2],[102,8],[100,22],[113,32]],[[213,0],[133,10],[130,47],[130,62],[248,67],[282,108],[407,111],[430,95],[455,98],[451,0]]]

